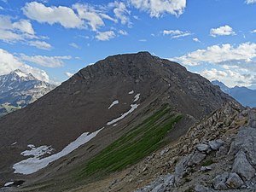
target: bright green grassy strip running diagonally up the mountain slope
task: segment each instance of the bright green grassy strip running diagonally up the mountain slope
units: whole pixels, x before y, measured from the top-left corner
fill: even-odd
[[[102,176],[137,163],[160,148],[163,138],[179,119],[181,115],[172,113],[166,105],[92,158],[84,165],[79,178]]]

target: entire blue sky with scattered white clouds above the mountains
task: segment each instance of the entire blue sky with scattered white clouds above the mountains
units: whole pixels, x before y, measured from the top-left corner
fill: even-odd
[[[0,74],[60,83],[108,55],[148,50],[256,89],[255,19],[256,0],[0,0]]]

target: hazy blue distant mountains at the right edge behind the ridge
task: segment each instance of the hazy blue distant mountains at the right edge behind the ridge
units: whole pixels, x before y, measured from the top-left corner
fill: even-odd
[[[218,80],[212,81],[212,84],[218,85],[222,91],[235,98],[236,101],[240,102],[243,106],[249,106],[251,108],[256,107],[256,90],[239,86],[230,88]]]

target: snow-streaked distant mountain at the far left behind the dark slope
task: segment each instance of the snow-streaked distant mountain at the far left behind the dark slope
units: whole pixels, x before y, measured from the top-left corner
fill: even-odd
[[[0,116],[24,108],[44,96],[55,85],[36,79],[19,69],[0,76]]]

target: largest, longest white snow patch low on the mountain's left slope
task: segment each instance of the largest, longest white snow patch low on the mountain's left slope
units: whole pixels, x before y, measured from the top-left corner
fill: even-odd
[[[104,128],[104,127],[103,127]],[[102,129],[103,129],[102,128]],[[69,143],[67,147],[63,148],[59,153],[52,154],[48,157],[45,157],[43,159],[40,159],[37,156],[34,156],[32,158],[21,160],[20,162],[16,163],[13,168],[15,169],[15,173],[21,173],[24,175],[29,175],[34,172],[38,172],[40,169],[43,169],[44,167],[48,166],[49,163],[60,159],[61,157],[70,154],[75,150],[76,148],[79,148],[81,145],[88,143],[92,138],[96,137],[96,135],[102,131],[102,129],[89,133],[84,132],[80,137],[78,137],[73,143]],[[30,145],[32,147],[32,145]],[[33,148],[33,147],[32,147]],[[40,148],[40,147],[39,147]],[[36,150],[32,150],[34,154],[36,153]],[[38,151],[37,151],[38,152]],[[24,153],[24,152],[22,152]],[[28,154],[28,152],[26,152]]]

